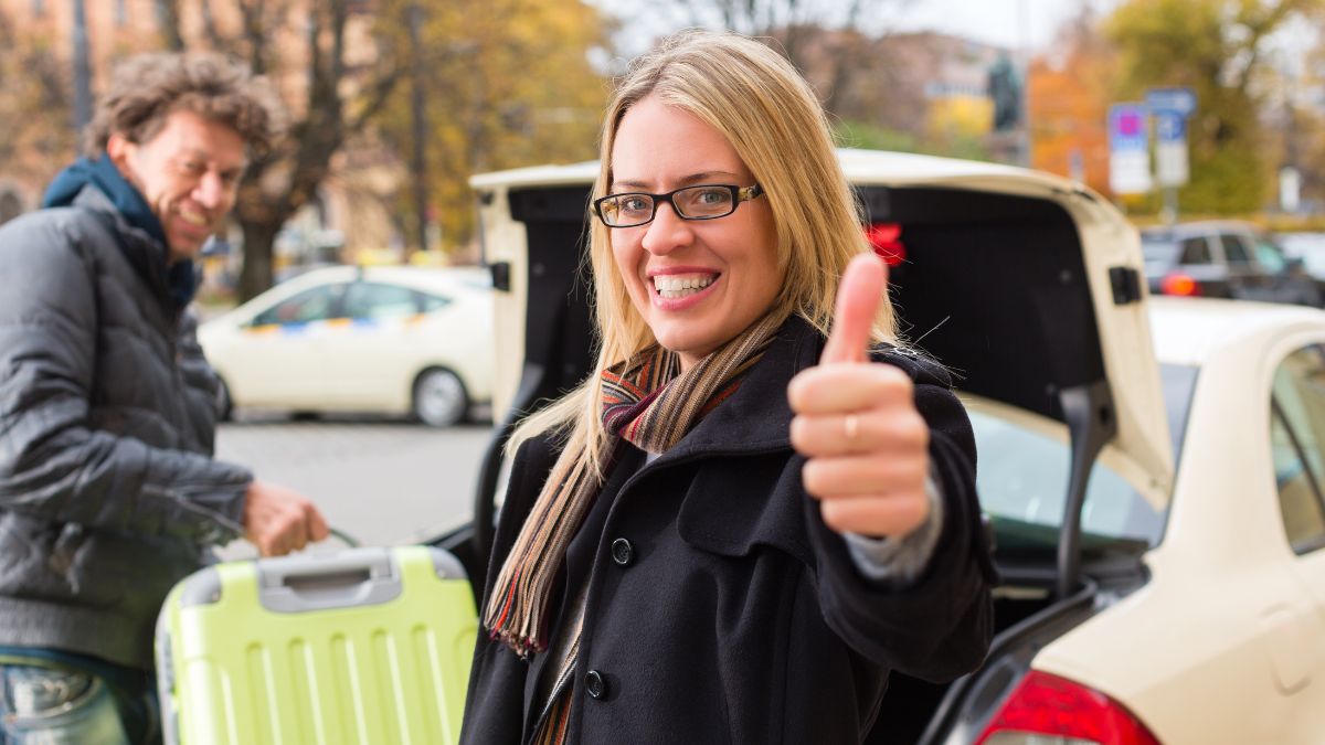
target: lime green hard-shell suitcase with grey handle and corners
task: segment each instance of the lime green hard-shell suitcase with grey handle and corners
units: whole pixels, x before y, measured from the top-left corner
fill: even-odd
[[[156,624],[166,742],[456,742],[476,632],[464,569],[439,549],[200,570]]]

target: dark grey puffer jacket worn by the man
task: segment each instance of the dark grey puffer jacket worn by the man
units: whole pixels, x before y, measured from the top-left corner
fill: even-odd
[[[0,228],[0,644],[147,669],[171,585],[237,534],[252,475],[211,459],[164,256],[93,187]]]

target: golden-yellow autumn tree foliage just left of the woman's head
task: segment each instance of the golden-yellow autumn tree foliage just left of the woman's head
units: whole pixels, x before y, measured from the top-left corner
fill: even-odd
[[[378,33],[403,50],[411,40],[400,19],[411,7],[413,0],[392,0],[378,15]],[[425,162],[419,170],[443,244],[453,248],[474,233],[470,175],[596,155],[607,85],[590,53],[606,56],[611,25],[578,0],[452,0],[421,9],[415,66],[421,77],[411,81],[424,91]],[[384,142],[398,152],[416,144],[412,93],[409,85],[399,86],[378,119]],[[419,221],[407,190],[398,209]]]

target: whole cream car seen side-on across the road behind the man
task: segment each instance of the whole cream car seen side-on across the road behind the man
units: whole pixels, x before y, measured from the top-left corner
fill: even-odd
[[[445,427],[492,398],[486,270],[333,266],[204,323],[223,408],[412,415]]]

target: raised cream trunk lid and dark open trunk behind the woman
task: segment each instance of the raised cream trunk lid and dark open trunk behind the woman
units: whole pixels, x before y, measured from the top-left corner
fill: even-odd
[[[1086,551],[1096,563],[1081,573],[1079,520],[1104,448],[1147,500],[1159,505],[1169,493],[1173,467],[1140,302],[1141,253],[1121,216],[1069,182],[893,154],[841,151],[840,158],[867,223],[901,228],[904,256],[892,268],[889,292],[904,338],[947,366],[959,392],[1069,432],[1063,525],[1037,549],[1014,541],[995,550],[1004,586],[996,590],[999,638],[984,668],[949,685],[894,676],[869,740],[942,741],[1006,689],[999,665],[1010,664],[1014,680],[1036,639],[1052,639],[1090,612],[1100,578],[1121,587],[1140,582],[1143,545]],[[476,496],[474,541],[454,546],[478,586],[486,567],[474,558],[486,557],[490,545],[509,427],[517,412],[570,390],[591,369],[584,220],[594,175],[595,164],[580,164],[473,180],[498,290],[494,411],[511,412]],[[1120,376],[1129,380],[1125,396],[1110,386]]]

